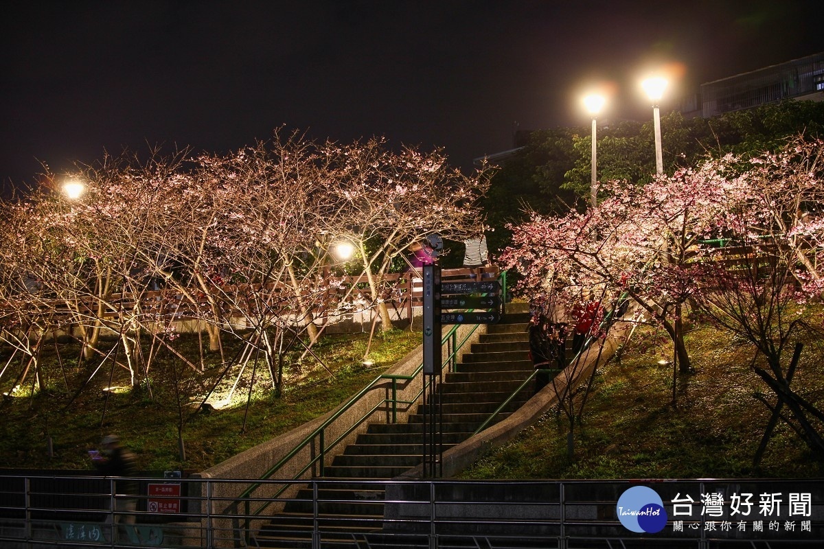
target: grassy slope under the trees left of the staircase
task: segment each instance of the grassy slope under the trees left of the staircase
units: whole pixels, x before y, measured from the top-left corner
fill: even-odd
[[[192,345],[197,345],[197,338],[193,339]],[[59,375],[52,375],[48,392],[32,396],[23,390],[16,393],[21,396],[0,401],[0,468],[91,468],[87,450],[96,448],[104,435],[115,433],[133,449],[141,470],[204,470],[329,412],[417,347],[421,335],[409,330],[377,334],[369,351],[374,364],[368,367],[362,365],[367,340],[368,333],[323,337],[313,351],[325,368],[311,357],[300,363],[291,361],[280,398],[274,397],[266,368],[258,368],[252,384],[251,365],[243,372],[235,366],[218,389],[227,394],[236,385],[234,404],[209,413],[195,410],[225,370],[214,362],[219,362],[214,356],[203,373],[180,365],[171,355],[158,361],[152,373],[152,397],[141,384],[109,392],[107,398],[101,389],[109,384],[110,366],[105,366],[73,401],[76,389],[72,386],[69,390]],[[235,350],[227,351],[231,356]],[[65,367],[71,370],[72,361],[66,362]],[[178,374],[185,376],[178,385],[186,392],[181,400],[193,404],[183,407],[188,420],[183,428],[185,461],[180,461],[178,450],[180,416],[170,374],[175,364]],[[44,372],[54,370],[54,365],[44,367]],[[124,380],[117,384],[124,384]],[[53,441],[51,458],[49,436]]]

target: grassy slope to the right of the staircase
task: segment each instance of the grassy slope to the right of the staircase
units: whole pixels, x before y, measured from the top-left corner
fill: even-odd
[[[770,412],[753,396],[765,384],[749,370],[753,351],[714,328],[686,338],[694,375],[678,379],[672,407],[672,345],[652,328],[634,333],[620,361],[597,372],[574,459],[567,457],[569,420],[550,412],[535,426],[463,472],[464,478],[820,477],[822,468],[783,422],[760,467],[753,456]],[[787,361],[792,349],[787,351]],[[824,405],[822,348],[808,344],[793,387]]]

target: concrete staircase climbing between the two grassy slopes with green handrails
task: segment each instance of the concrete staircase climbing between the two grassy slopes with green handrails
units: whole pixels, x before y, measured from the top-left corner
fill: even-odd
[[[507,314],[489,325],[456,371],[444,373],[438,399],[442,451],[468,439],[531,374],[528,321],[526,304],[508,304]],[[517,410],[531,394],[531,386],[522,390],[494,421]],[[319,489],[317,517],[314,495],[304,489],[255,534],[255,542],[260,547],[311,547],[315,520],[324,534],[323,547],[358,547],[358,533],[380,532],[384,487],[369,481],[391,480],[423,463],[427,407],[417,404],[406,423],[370,423],[355,444],[349,444],[325,468],[324,478],[335,482]]]

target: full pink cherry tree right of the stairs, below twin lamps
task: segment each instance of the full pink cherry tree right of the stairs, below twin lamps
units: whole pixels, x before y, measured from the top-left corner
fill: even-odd
[[[609,181],[597,207],[564,216],[537,216],[516,227],[514,245],[502,255],[517,269],[522,290],[539,300],[558,293],[568,310],[588,294],[613,305],[627,295],[636,320],[650,319],[672,337],[681,372],[691,369],[683,339],[683,305],[694,286],[686,276],[691,249],[718,229],[737,200],[737,180],[709,161],[696,170],[659,176],[639,187]]]

